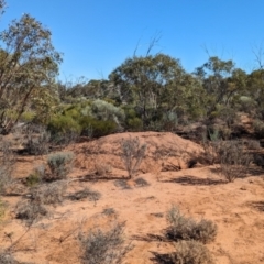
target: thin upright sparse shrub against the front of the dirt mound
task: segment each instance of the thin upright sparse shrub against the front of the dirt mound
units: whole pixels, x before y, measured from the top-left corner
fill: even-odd
[[[146,144],[141,144],[139,138],[123,140],[121,157],[124,161],[129,177],[134,176],[145,156]]]

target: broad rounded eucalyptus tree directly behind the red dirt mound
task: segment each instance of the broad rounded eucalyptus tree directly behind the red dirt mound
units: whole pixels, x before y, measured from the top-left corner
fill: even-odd
[[[144,128],[157,116],[186,109],[191,78],[178,59],[165,54],[133,56],[109,75],[121,101],[139,109]]]

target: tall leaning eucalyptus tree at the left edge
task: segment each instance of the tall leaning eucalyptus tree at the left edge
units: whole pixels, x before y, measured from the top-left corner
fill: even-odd
[[[0,33],[0,133],[9,133],[30,105],[51,109],[62,62],[51,38],[51,31],[30,14]]]

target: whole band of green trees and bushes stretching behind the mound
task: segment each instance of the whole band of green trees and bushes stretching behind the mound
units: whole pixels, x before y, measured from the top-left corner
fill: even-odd
[[[1,11],[4,1],[0,1]],[[0,34],[0,133],[18,122],[45,127],[53,138],[120,131],[177,131],[194,122],[228,139],[246,113],[264,133],[264,69],[251,73],[217,56],[188,73],[166,54],[127,58],[108,79],[57,81],[62,55],[52,33],[29,14]],[[215,131],[216,132],[216,131]]]

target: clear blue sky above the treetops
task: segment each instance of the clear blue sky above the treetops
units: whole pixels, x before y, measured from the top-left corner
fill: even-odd
[[[253,50],[264,48],[264,0],[7,0],[2,30],[12,19],[30,13],[53,33],[64,54],[62,80],[85,76],[107,78],[133,52],[179,58],[193,72],[208,54],[232,58],[252,70]],[[264,51],[264,50],[263,50]]]

